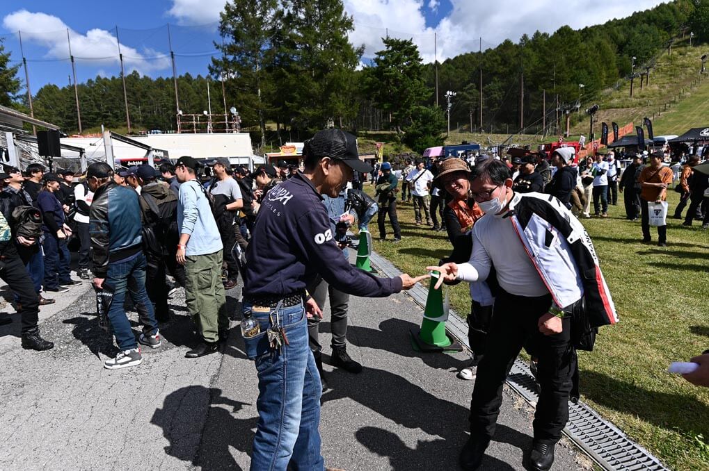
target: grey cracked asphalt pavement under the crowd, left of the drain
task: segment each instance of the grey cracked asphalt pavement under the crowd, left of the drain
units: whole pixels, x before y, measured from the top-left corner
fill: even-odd
[[[143,364],[102,367],[115,355],[99,328],[89,284],[42,308],[40,329],[55,342],[23,350],[19,319],[0,327],[0,469],[246,470],[257,421],[257,377],[245,358],[238,319],[240,287],[228,292],[234,321],[221,353],[184,358],[195,338],[178,290],[162,346],[143,347]],[[7,297],[7,293],[5,292]],[[12,313],[7,305],[5,310]],[[455,373],[467,353],[417,353],[409,331],[422,310],[405,293],[352,297],[347,351],[364,365],[352,375],[325,365],[320,433],[325,465],[354,470],[456,470],[467,440],[473,382]],[[129,313],[136,335],[137,316]],[[329,307],[321,323],[330,360]],[[494,441],[482,469],[522,469],[531,446],[532,409],[505,387]],[[553,469],[591,467],[566,440]]]

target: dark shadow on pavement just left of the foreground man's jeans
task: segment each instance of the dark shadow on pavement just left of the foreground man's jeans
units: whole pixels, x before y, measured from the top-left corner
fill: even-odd
[[[165,453],[202,470],[241,470],[230,449],[251,454],[258,417],[237,419],[245,402],[224,397],[218,388],[181,387],[156,409],[151,424],[162,428]],[[204,416],[206,415],[206,420]]]

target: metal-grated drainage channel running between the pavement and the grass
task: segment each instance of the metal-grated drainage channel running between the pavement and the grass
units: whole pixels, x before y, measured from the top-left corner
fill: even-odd
[[[380,273],[386,276],[401,274],[396,266],[379,254],[372,252],[370,261]],[[418,305],[425,307],[428,289],[424,288],[421,283],[406,293],[413,297]],[[446,329],[462,345],[468,350],[470,349],[468,325],[453,310],[449,312]],[[510,369],[507,384],[527,402],[537,403],[537,399],[539,399],[537,382],[535,382],[529,366],[519,358]],[[578,404],[569,402],[569,421],[564,429],[564,434],[605,470],[660,471],[667,469],[649,451],[627,438],[618,427],[602,419],[596,411],[581,401]]]

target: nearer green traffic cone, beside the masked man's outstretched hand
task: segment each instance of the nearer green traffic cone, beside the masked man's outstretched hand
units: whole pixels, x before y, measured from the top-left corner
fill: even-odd
[[[459,342],[445,330],[448,313],[443,307],[443,287],[435,288],[439,276],[437,271],[431,273],[421,328],[418,332],[411,332],[413,348],[418,351],[461,351]]]

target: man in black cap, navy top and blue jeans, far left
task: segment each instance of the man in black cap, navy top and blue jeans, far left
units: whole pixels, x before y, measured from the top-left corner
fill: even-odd
[[[80,285],[81,281],[72,280],[69,272],[71,254],[67,239],[72,230],[66,224],[66,215],[62,203],[57,199],[61,178],[55,174],[43,176],[45,186],[37,195],[37,206],[42,212],[44,224],[45,254],[44,290],[48,293],[65,293],[69,286]]]

